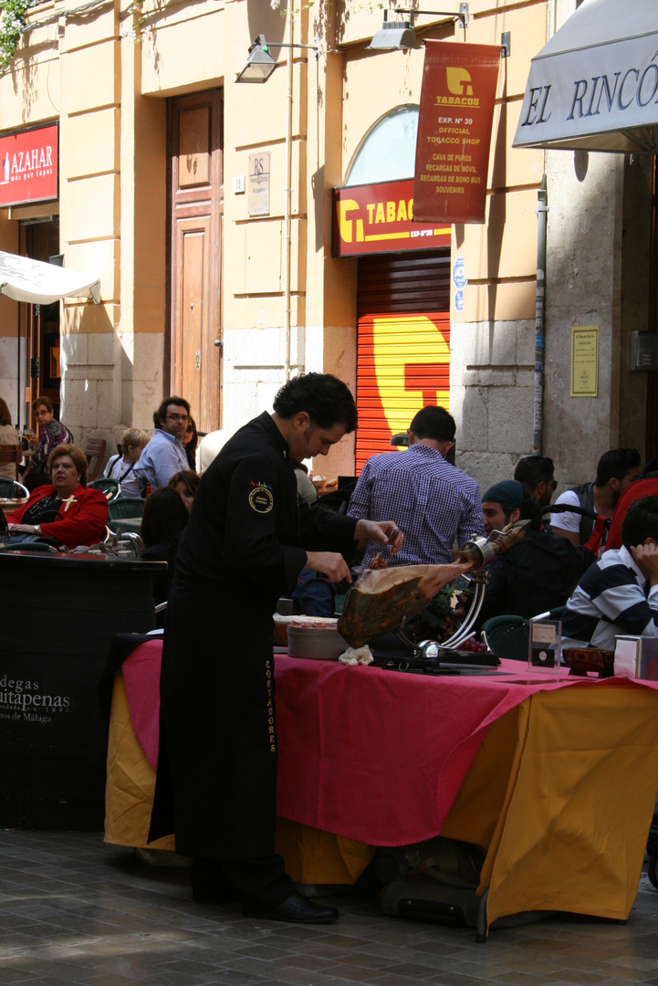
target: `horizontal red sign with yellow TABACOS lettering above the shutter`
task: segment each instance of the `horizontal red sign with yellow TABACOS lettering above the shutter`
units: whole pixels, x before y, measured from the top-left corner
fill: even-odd
[[[332,254],[360,256],[450,246],[450,227],[414,219],[414,181],[334,188]]]

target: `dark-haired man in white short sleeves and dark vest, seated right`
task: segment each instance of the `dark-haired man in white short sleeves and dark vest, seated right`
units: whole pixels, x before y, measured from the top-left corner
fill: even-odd
[[[600,518],[609,519],[615,512],[617,501],[638,475],[637,449],[611,449],[599,459],[594,482],[583,483],[561,493],[556,506],[582,507]],[[584,517],[568,510],[554,514],[551,519],[554,534],[566,537],[571,544],[587,544],[594,524],[593,517]]]

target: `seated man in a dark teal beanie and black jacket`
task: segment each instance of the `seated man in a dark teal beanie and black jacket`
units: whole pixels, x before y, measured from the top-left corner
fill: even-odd
[[[542,508],[515,479],[487,490],[482,512],[487,533],[516,521],[530,521],[522,541],[494,559],[480,611],[478,628],[492,616],[529,619],[562,606],[596,555],[587,548],[556,537],[542,525]]]

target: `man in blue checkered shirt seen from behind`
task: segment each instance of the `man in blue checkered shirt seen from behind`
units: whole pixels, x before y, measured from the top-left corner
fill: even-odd
[[[365,462],[348,515],[370,521],[395,517],[405,541],[386,558],[389,565],[449,562],[455,541],[461,546],[472,534],[484,535],[478,484],[444,458],[454,438],[454,418],[442,407],[424,407],[409,428],[409,449]],[[367,545],[362,568],[377,550]]]

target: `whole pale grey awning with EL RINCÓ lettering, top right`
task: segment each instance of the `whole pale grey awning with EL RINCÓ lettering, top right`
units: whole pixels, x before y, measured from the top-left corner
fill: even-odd
[[[513,146],[656,153],[656,0],[584,0],[532,60]]]

